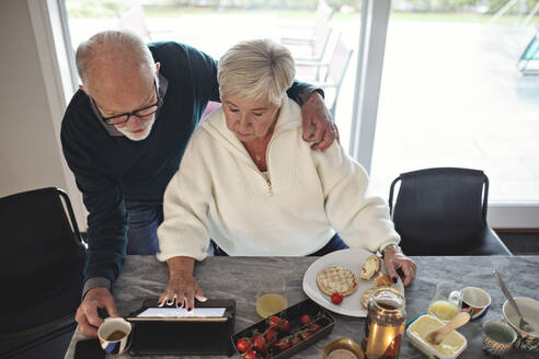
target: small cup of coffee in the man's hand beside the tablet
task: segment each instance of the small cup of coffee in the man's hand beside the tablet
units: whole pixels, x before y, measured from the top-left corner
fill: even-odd
[[[107,317],[101,324],[98,336],[103,350],[108,354],[123,354],[131,344],[131,324],[123,317]]]

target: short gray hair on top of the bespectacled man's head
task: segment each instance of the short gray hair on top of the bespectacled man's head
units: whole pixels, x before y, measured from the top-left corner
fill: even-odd
[[[77,48],[77,71],[85,88],[88,88],[88,70],[93,55],[98,55],[103,50],[118,50],[123,53],[127,50],[130,53],[126,54],[126,56],[131,57],[131,60],[140,63],[148,62],[150,69],[156,67],[148,45],[136,34],[128,31],[100,32],[81,43]]]

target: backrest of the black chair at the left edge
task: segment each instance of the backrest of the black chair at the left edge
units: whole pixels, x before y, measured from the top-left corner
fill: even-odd
[[[0,282],[2,292],[9,293],[0,302],[25,311],[41,303],[57,303],[57,313],[28,321],[46,322],[58,313],[74,312],[80,303],[85,248],[61,189],[49,187],[0,198]],[[56,299],[66,296],[70,296],[69,305]],[[20,329],[36,325],[22,323],[22,317]],[[0,333],[4,329],[0,324]]]

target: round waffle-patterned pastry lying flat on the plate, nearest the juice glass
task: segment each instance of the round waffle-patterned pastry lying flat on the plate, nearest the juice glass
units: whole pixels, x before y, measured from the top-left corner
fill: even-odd
[[[340,293],[346,297],[357,289],[357,279],[348,268],[333,266],[318,273],[317,285],[328,296]]]

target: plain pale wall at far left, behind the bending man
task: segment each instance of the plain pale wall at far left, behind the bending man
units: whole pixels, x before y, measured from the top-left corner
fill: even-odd
[[[69,194],[79,227],[85,229],[80,194],[59,142],[66,101],[61,92],[51,91],[50,81],[59,65],[44,56],[43,49],[54,46],[44,44],[47,35],[36,25],[36,13],[37,23],[47,22],[39,18],[48,16],[46,3],[36,1],[33,11],[32,1],[0,1],[0,197],[60,187]]]

